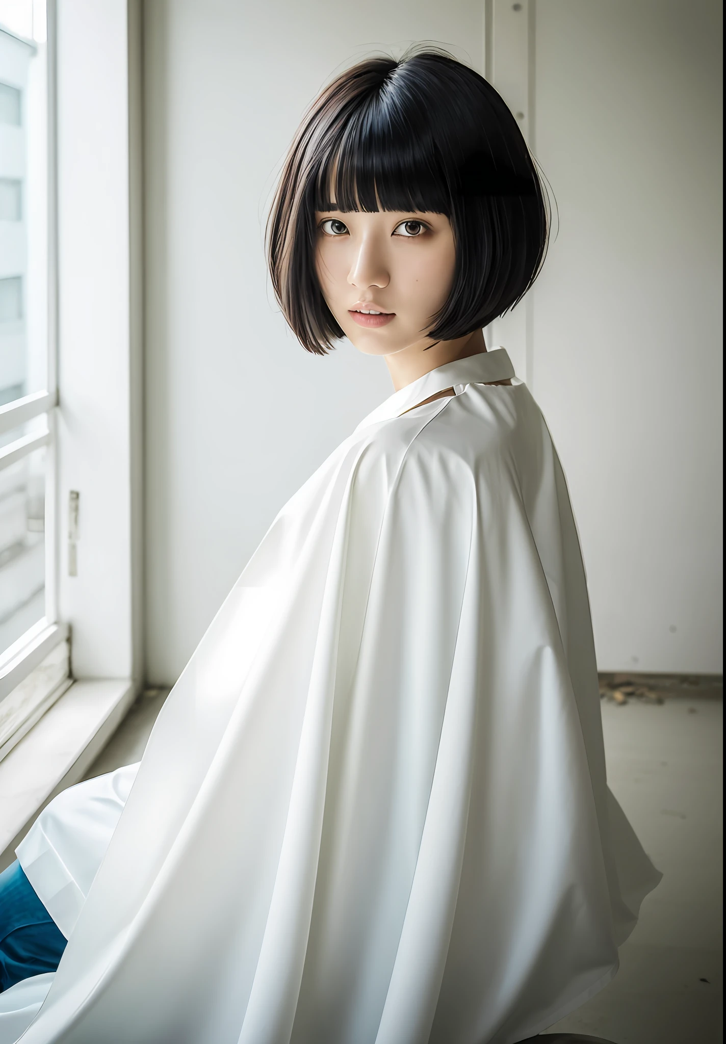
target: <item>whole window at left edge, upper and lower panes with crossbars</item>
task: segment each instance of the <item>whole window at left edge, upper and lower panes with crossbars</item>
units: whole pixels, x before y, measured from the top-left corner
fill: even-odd
[[[0,0],[0,759],[68,684],[54,593],[47,70],[44,0]]]

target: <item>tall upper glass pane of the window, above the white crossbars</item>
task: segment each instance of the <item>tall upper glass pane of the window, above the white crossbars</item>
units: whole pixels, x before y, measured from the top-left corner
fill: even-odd
[[[44,38],[44,3],[0,0],[0,405],[48,381]]]

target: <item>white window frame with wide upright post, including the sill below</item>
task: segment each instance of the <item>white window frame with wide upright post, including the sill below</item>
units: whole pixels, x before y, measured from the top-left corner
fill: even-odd
[[[57,521],[49,612],[57,615],[16,643],[0,678],[15,687],[70,627],[74,683],[0,761],[0,870],[44,805],[83,778],[143,679],[140,0],[48,0],[48,41],[58,359],[49,380],[57,383],[47,399],[9,404],[0,423],[48,416],[47,496]],[[71,491],[79,494],[75,576]]]

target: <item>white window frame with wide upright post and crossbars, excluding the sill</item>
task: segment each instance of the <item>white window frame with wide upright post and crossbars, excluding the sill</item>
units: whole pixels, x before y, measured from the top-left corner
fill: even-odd
[[[46,495],[45,627],[3,657],[0,679],[9,679],[11,659],[14,684],[41,645],[51,647],[41,631],[60,628],[62,640],[58,618],[73,631],[75,677],[141,675],[139,27],[138,0],[48,0],[48,388],[0,407],[0,431],[43,414],[48,429],[0,449],[0,468],[41,446],[55,459]],[[99,156],[104,169],[84,163]],[[67,562],[71,490],[80,494],[77,577]],[[102,576],[94,571],[101,559]]]

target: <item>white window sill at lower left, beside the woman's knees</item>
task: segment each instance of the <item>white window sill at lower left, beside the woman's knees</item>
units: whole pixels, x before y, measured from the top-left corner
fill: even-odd
[[[39,812],[83,778],[135,695],[128,679],[74,682],[0,761],[0,871]]]

